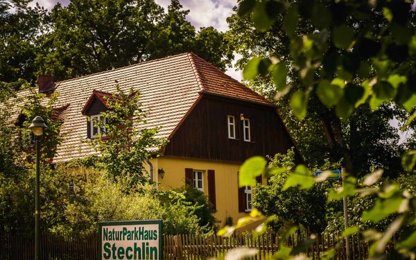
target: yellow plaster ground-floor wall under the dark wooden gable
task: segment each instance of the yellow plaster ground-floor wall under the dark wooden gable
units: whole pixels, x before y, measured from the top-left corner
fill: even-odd
[[[151,159],[153,164],[153,178],[159,182],[159,189],[175,189],[185,184],[185,168],[193,168],[204,172],[204,193],[208,196],[207,170],[215,171],[216,186],[216,218],[221,221],[220,227],[225,225],[227,216],[231,216],[234,224],[246,214],[239,212],[238,172],[241,164],[210,162],[197,159],[182,159],[175,157],[159,157]],[[157,169],[164,169],[164,178],[157,174]],[[146,165],[149,170],[149,166]]]

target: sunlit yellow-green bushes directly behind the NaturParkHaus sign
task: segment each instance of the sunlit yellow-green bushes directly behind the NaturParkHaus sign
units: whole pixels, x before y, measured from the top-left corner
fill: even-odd
[[[166,234],[202,232],[194,214],[196,207],[184,202],[180,193],[166,195],[151,186],[137,186],[135,191],[125,193],[125,182],[130,181],[126,178],[113,182],[92,168],[60,171],[73,183],[73,194],[64,198],[65,221],[51,227],[55,232],[91,234],[97,231],[101,221],[148,219],[163,219]]]

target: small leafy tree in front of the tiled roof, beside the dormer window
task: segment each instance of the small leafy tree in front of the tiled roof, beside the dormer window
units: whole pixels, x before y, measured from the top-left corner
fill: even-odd
[[[139,92],[130,89],[125,94],[118,85],[112,97],[106,97],[108,110],[101,112],[106,121],[94,119],[94,125],[105,128],[105,136],[92,140],[101,153],[98,157],[101,168],[113,177],[129,177],[132,185],[148,182],[148,173],[143,163],[157,155],[166,141],[155,137],[157,129],[143,128],[146,112],[139,102]],[[91,120],[91,119],[89,119]]]

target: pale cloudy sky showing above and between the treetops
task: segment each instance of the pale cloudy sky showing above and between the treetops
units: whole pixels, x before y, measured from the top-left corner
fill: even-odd
[[[67,6],[70,0],[33,0],[31,5],[35,6],[36,2],[51,10],[58,2],[62,6]],[[155,0],[155,2],[167,10],[171,0]],[[180,3],[184,10],[190,11],[187,19],[197,30],[201,27],[213,26],[218,31],[225,32],[228,30],[226,19],[232,15],[232,8],[236,6],[237,0],[180,0]],[[236,71],[231,67],[225,73],[241,81],[241,71]]]

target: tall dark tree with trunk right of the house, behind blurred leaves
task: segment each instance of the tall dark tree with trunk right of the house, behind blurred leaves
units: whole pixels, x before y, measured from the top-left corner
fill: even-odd
[[[332,5],[330,1],[324,2],[325,4]],[[308,24],[304,19],[300,19],[300,21],[296,20],[296,17],[299,16],[297,14],[298,12],[301,10],[302,12],[309,10],[306,5],[307,3],[302,1],[302,3],[293,4],[292,8],[285,6],[285,9],[287,7],[288,10],[291,10],[291,15],[294,17],[286,15],[286,12],[279,12],[279,14],[277,14],[279,19],[270,21],[270,27],[263,28],[263,30],[257,30],[254,27],[254,18],[252,18],[251,15],[232,15],[232,17],[229,17],[227,21],[229,22],[230,31],[227,35],[229,39],[231,39],[230,42],[236,48],[236,51],[243,55],[243,58],[238,62],[239,67],[243,68],[244,64],[247,64],[250,58],[262,55],[272,56],[279,60],[279,64],[273,65],[274,69],[270,67],[268,74],[270,75],[272,73],[272,76],[255,78],[248,76],[247,79],[250,80],[254,89],[266,94],[269,98],[273,99],[275,96],[279,98],[276,103],[281,107],[281,114],[284,116],[284,121],[288,125],[295,141],[297,141],[307,163],[315,166],[322,164],[322,159],[324,157],[330,157],[333,162],[338,162],[339,159],[344,158],[344,164],[346,166],[348,164],[347,168],[349,173],[360,177],[370,170],[368,164],[363,164],[363,162],[372,162],[374,165],[383,166],[383,168],[388,169],[385,174],[397,177],[402,171],[401,166],[399,166],[399,157],[404,152],[404,149],[398,144],[399,136],[397,134],[397,129],[392,128],[389,121],[393,118],[399,119],[399,121],[406,121],[406,119],[403,119],[404,112],[401,112],[401,108],[398,108],[395,105],[383,105],[381,111],[373,113],[372,110],[374,110],[374,107],[370,110],[368,107],[364,108],[365,105],[363,105],[363,107],[355,110],[353,116],[349,116],[348,118],[347,116],[343,116],[343,121],[338,121],[336,119],[336,109],[333,107],[331,108],[331,106],[326,107],[324,105],[325,103],[320,101],[320,97],[322,97],[320,94],[322,92],[309,91],[308,93],[310,94],[307,99],[308,110],[307,114],[306,109],[304,110],[305,114],[303,116],[303,121],[297,121],[295,118],[297,110],[290,109],[291,95],[293,93],[298,90],[302,91],[298,93],[303,93],[305,89],[311,87],[317,89],[319,80],[331,78],[330,73],[327,73],[326,71],[328,67],[332,66],[333,69],[334,67],[343,66],[343,64],[346,66],[350,64],[350,67],[347,68],[353,70],[348,73],[355,73],[354,79],[352,79],[352,76],[350,77],[350,80],[352,80],[354,84],[359,81],[358,78],[362,76],[365,68],[363,65],[363,68],[358,70],[358,65],[352,66],[351,64],[353,61],[360,63],[359,60],[356,61],[356,56],[358,55],[354,53],[354,51],[353,53],[348,54],[345,49],[338,49],[337,53],[337,51],[334,51],[334,49],[337,49],[337,46],[334,45],[333,40],[329,39],[325,43],[328,45],[327,48],[325,47],[325,49],[322,47],[324,48],[322,49],[322,52],[326,51],[322,54],[322,61],[313,65],[316,66],[316,69],[313,69],[316,74],[315,78],[312,77],[313,82],[309,85],[305,85],[304,82],[302,82],[300,68],[304,65],[306,66],[306,64],[302,63],[306,62],[306,60],[302,61],[302,58],[295,60],[297,57],[294,55],[297,55],[297,53],[299,53],[299,55],[305,54],[302,54],[301,49],[297,50],[297,52],[294,50],[295,45],[294,42],[291,42],[291,39],[299,40],[302,35],[309,35],[309,37],[312,37],[314,32],[319,31],[319,28],[313,24]],[[297,10],[297,6],[299,6],[299,11]],[[352,10],[347,10],[347,12],[351,13]],[[331,14],[329,14],[329,16],[331,17]],[[286,17],[286,19],[284,19],[284,17]],[[348,17],[348,15],[346,15],[346,17]],[[293,19],[295,24],[289,24],[289,18]],[[351,19],[348,18],[347,24],[352,24],[353,19],[354,18],[352,17]],[[343,24],[343,21],[337,21],[337,23]],[[385,21],[383,21],[383,17],[379,12],[374,12],[374,15],[372,15],[372,18],[370,19],[370,24],[383,24],[384,22]],[[368,24],[367,28],[369,30],[371,29],[370,24]],[[295,30],[295,28],[293,28],[293,32],[288,34],[286,33],[288,26],[297,26],[297,29]],[[325,28],[324,32],[330,32],[332,29],[333,28]],[[363,33],[363,28],[357,26],[356,33],[360,31]],[[342,55],[343,53],[347,53],[348,55]],[[315,60],[313,61],[315,62]],[[257,62],[259,62],[259,59],[257,59]],[[295,62],[298,62],[299,64],[296,64]],[[367,64],[367,61],[361,61],[361,63]],[[319,64],[322,64],[322,66],[320,67]],[[307,71],[307,69],[303,72],[305,71]],[[266,73],[267,69],[263,72]],[[331,72],[335,73],[333,78],[338,77],[338,80],[345,80],[341,78],[349,77],[346,75],[348,73],[343,73],[343,69]],[[322,73],[322,75],[320,75],[320,73]],[[312,72],[311,75],[313,75]],[[365,79],[367,78],[361,77],[361,81]],[[280,87],[275,87],[275,83],[279,84]],[[286,83],[288,84],[286,85]],[[320,89],[322,89],[322,87]],[[354,92],[354,88],[351,88],[351,85],[347,85],[347,87],[343,86],[342,92],[344,92],[344,89],[345,91],[348,90],[349,96],[354,96],[350,95]],[[360,89],[362,88],[358,87],[358,92],[361,91]],[[285,95],[287,93],[289,94]],[[358,141],[363,139],[366,139],[367,141]],[[377,155],[375,155],[374,151],[378,151]],[[322,154],[326,156],[322,156]],[[356,156],[358,154],[359,156]],[[385,157],[380,157],[380,155],[392,155],[392,159],[388,160]],[[385,163],[390,163],[390,161],[395,167],[393,167],[392,164],[385,165]]]

